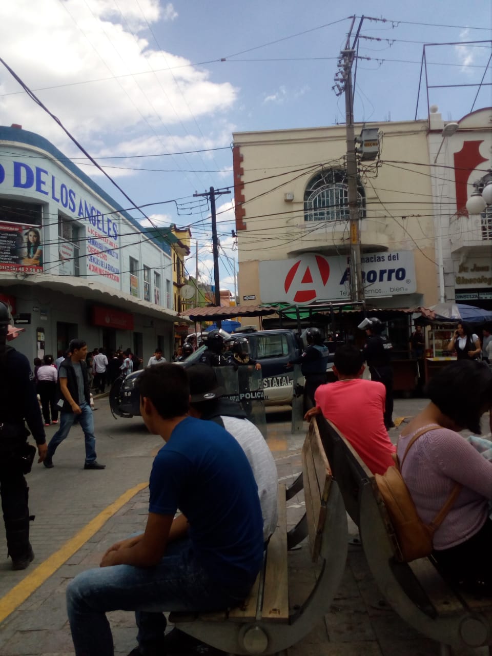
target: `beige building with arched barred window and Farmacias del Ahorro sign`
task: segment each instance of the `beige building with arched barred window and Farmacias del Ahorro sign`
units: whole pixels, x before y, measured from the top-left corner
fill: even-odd
[[[365,298],[379,308],[432,305],[428,123],[366,127],[379,129],[380,155],[359,162]],[[239,304],[350,299],[344,125],[233,138]]]

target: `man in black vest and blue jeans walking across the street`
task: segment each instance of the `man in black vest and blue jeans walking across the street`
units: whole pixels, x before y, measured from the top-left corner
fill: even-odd
[[[79,422],[85,438],[84,469],[104,469],[106,465],[96,461],[96,438],[94,437],[94,418],[91,409],[91,392],[87,376],[87,344],[81,339],[70,342],[70,358],[64,359],[58,369],[58,407],[61,407],[60,428],[52,436],[48,454],[43,464],[48,469],[53,465],[56,448],[68,436],[70,428]]]

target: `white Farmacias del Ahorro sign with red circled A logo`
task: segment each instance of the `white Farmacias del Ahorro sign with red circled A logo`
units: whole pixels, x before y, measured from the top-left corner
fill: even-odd
[[[417,289],[411,251],[362,255],[366,298],[412,294]],[[310,303],[350,298],[348,256],[304,253],[289,260],[260,262],[261,300],[264,303]]]

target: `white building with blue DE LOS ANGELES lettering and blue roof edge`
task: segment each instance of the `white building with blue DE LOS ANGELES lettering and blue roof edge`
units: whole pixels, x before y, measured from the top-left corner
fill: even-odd
[[[142,228],[49,141],[0,127],[0,300],[32,361],[90,349],[172,354],[169,230]]]

